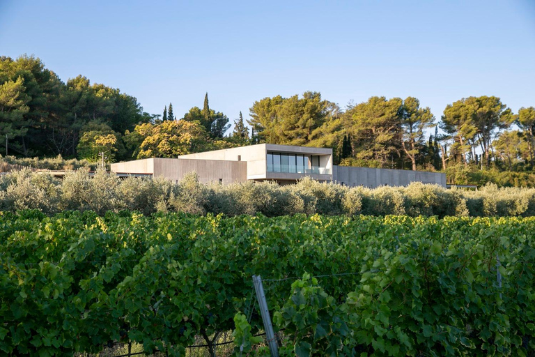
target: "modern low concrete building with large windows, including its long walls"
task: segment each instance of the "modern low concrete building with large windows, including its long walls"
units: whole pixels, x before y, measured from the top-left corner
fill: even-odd
[[[233,183],[247,180],[295,183],[304,176],[348,186],[408,185],[412,181],[446,186],[446,175],[394,169],[369,169],[332,165],[332,149],[307,146],[258,144],[240,148],[150,158],[111,164],[120,176],[163,176],[178,182],[196,172],[203,183]]]

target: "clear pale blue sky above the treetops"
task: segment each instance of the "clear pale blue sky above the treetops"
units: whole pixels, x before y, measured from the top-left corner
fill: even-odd
[[[535,106],[535,0],[0,0],[0,55],[34,54],[161,114],[320,91],[345,107],[419,98],[440,118],[467,96]]]

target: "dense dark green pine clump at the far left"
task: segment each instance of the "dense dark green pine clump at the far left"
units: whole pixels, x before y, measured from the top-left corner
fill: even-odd
[[[63,83],[33,56],[0,58],[0,134],[8,135],[12,155],[77,157],[80,130],[91,121],[123,135],[152,120],[136,98],[118,89],[82,75]]]

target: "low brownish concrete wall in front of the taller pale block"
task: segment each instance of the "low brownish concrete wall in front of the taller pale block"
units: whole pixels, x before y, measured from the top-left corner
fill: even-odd
[[[192,160],[192,159],[154,159],[154,177],[164,176],[177,183],[185,174],[196,172],[201,183],[223,184],[247,181],[247,162],[223,160]]]

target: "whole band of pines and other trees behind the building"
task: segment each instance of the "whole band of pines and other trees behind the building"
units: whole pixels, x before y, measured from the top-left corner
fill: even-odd
[[[162,114],[148,114],[120,89],[83,75],[63,82],[34,56],[1,56],[0,154],[96,162],[104,153],[116,162],[288,144],[332,148],[335,165],[440,170],[454,184],[534,187],[534,103],[513,112],[496,96],[451,100],[432,113],[411,96],[340,107],[306,91],[256,100],[247,119],[217,112],[206,93],[202,107],[186,113],[162,102]]]

